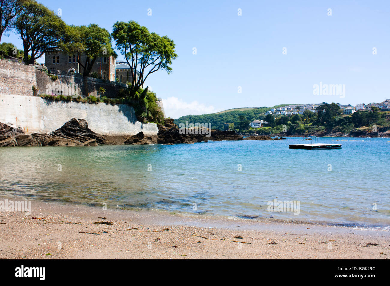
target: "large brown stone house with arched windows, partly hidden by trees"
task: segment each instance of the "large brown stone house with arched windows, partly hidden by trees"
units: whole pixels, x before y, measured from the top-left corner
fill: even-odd
[[[83,53],[80,61],[85,63],[87,56]],[[100,79],[115,81],[115,58],[113,56],[102,56],[97,58],[91,72],[96,72]],[[76,72],[81,74],[83,67],[77,62],[77,54],[62,52],[45,53],[45,66],[48,70],[60,70],[65,72]]]

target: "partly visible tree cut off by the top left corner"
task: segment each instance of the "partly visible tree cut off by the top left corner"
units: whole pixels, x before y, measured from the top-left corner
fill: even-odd
[[[0,0],[0,42],[3,33],[11,30],[24,2],[23,0]]]

